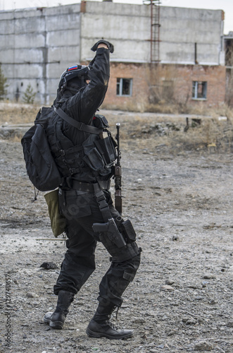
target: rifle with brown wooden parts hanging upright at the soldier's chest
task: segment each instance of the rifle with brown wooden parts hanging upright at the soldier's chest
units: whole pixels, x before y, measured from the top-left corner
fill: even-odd
[[[122,214],[122,196],[121,196],[121,166],[120,166],[120,123],[116,124],[117,135],[115,136],[118,147],[117,147],[117,161],[115,162],[115,209],[118,210],[120,215]]]

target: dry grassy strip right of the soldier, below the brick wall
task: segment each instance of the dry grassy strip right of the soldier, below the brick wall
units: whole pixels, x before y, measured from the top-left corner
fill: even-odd
[[[218,115],[218,114],[217,114]],[[112,119],[110,119],[112,120]],[[117,119],[113,119],[117,120]],[[114,123],[111,123],[113,131]],[[186,128],[185,117],[170,116],[122,116],[121,140],[124,148],[137,148],[156,151],[160,146],[177,153],[184,150],[211,150],[213,152],[229,152],[232,150],[233,126],[231,119],[219,120],[202,117],[201,124],[189,118]]]

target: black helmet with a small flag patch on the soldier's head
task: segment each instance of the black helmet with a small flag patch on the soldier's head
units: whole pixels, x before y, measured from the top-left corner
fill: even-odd
[[[62,74],[58,85],[58,90],[63,92],[69,80],[76,78],[75,83],[82,88],[85,85],[85,80],[88,79],[90,68],[85,65],[73,65],[67,68]],[[76,82],[77,81],[77,82]]]

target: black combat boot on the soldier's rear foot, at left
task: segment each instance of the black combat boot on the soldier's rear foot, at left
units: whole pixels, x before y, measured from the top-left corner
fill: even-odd
[[[56,310],[44,315],[44,322],[49,323],[51,328],[61,330],[63,328],[65,317],[69,312],[69,306],[74,300],[74,293],[61,290],[58,292],[58,303]]]

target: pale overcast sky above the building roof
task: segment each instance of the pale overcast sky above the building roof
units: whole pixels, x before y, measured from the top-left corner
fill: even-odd
[[[13,8],[28,8],[42,6],[68,5],[80,2],[80,0],[0,0],[0,10]],[[143,4],[143,0],[113,0],[126,4]],[[162,6],[177,6],[190,8],[210,8],[225,11],[225,35],[233,31],[233,0],[160,0]]]

